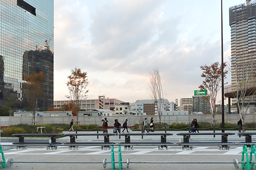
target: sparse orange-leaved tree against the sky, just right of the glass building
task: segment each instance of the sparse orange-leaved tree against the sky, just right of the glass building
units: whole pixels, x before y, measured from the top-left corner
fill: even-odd
[[[75,114],[77,118],[79,118],[79,101],[87,98],[88,90],[86,90],[88,85],[88,76],[87,72],[81,71],[80,68],[71,69],[71,75],[67,77],[67,86],[70,92],[69,96],[66,96],[70,99],[71,102],[75,104]]]

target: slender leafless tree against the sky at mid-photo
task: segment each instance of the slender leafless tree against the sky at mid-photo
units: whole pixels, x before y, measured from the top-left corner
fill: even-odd
[[[161,122],[163,113],[163,88],[158,68],[154,68],[152,71],[149,71],[148,77],[150,80],[149,95],[155,103],[157,115],[159,117],[159,121]]]

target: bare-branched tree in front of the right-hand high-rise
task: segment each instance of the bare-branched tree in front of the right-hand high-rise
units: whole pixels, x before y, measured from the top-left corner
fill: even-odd
[[[237,111],[242,120],[242,130],[244,132],[244,118],[247,114],[250,102],[253,102],[253,95],[256,93],[256,73],[254,60],[251,57],[238,58],[236,65],[232,65],[232,79],[236,80],[232,84],[232,93],[237,103]]]

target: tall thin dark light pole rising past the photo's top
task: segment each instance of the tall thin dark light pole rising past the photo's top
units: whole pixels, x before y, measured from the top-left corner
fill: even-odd
[[[225,132],[224,128],[224,64],[223,64],[223,21],[222,21],[222,0],[221,0],[221,101],[222,101],[222,125],[221,132]]]

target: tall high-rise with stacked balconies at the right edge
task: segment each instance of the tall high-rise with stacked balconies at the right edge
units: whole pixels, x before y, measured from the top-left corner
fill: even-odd
[[[229,8],[229,24],[231,28],[231,84],[232,91],[237,91],[237,84],[245,79],[253,78],[256,72],[255,48],[256,1],[246,0]],[[255,82],[251,82],[255,86]],[[256,96],[249,96],[246,103],[256,102]],[[233,99],[232,104],[236,105]]]

